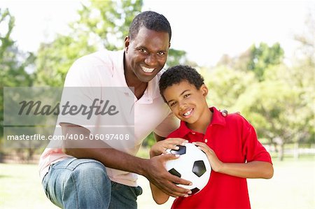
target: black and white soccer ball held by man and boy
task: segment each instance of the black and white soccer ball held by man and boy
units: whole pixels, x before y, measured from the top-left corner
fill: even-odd
[[[167,150],[172,154],[180,154],[178,159],[166,162],[165,167],[169,173],[185,180],[189,180],[193,185],[179,185],[190,189],[192,194],[200,192],[208,183],[211,173],[211,166],[207,155],[192,143],[179,146],[179,150]]]

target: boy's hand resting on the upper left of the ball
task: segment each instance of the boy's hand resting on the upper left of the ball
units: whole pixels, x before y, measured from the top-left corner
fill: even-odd
[[[167,140],[160,140],[155,143],[150,149],[150,158],[158,156],[160,154],[167,154],[167,149],[178,150],[177,145],[185,145],[188,140],[183,138],[168,138]]]

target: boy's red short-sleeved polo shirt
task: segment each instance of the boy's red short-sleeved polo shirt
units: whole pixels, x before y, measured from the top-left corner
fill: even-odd
[[[216,108],[206,134],[189,129],[185,122],[169,134],[168,138],[185,138],[192,142],[204,142],[225,163],[267,161],[269,153],[258,141],[255,129],[239,114],[223,117]],[[193,196],[175,199],[172,208],[251,208],[246,178],[211,171],[210,180],[204,189]]]

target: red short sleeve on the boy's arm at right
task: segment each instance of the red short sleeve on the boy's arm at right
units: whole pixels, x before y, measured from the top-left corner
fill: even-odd
[[[243,154],[246,156],[246,161],[266,161],[272,163],[269,152],[259,142],[253,126],[248,124],[244,129]]]

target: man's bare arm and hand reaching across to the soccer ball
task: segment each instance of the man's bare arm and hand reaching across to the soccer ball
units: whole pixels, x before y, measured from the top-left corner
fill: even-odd
[[[90,131],[84,127],[80,127],[74,124],[61,123],[62,134],[66,136],[83,134],[83,138],[89,138]],[[102,141],[93,140],[94,143],[103,143]],[[183,180],[175,175],[172,175],[164,168],[165,161],[169,159],[176,159],[174,154],[165,154],[162,156],[153,157],[151,159],[141,159],[134,157],[125,152],[115,150],[111,147],[106,148],[94,148],[97,145],[93,145],[92,148],[75,148],[71,147],[71,143],[78,143],[78,141],[66,140],[66,147],[64,152],[77,158],[91,158],[102,162],[104,166],[109,168],[115,168],[121,171],[128,171],[132,173],[138,173],[144,175],[150,182],[157,185],[165,194],[170,196],[185,196],[190,192],[189,189],[178,187],[174,184],[188,185],[187,180]],[[90,143],[90,141],[89,141]]]

